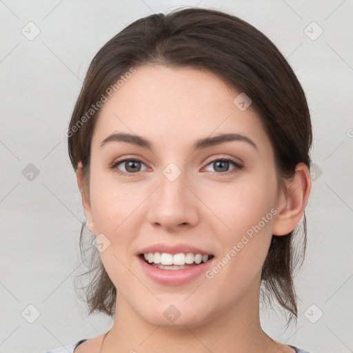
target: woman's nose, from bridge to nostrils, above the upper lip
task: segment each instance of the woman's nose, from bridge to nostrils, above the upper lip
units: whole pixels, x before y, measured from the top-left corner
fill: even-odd
[[[187,185],[183,172],[174,181],[165,175],[161,173],[159,187],[149,198],[148,221],[169,232],[195,226],[200,205],[196,192]]]

